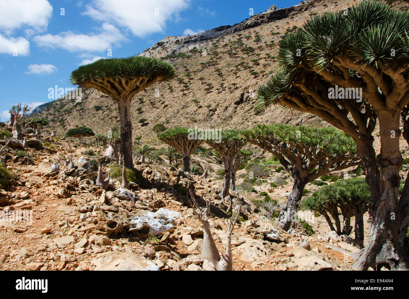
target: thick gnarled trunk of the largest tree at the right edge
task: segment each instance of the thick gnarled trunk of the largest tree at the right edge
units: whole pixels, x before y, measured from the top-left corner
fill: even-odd
[[[407,196],[399,199],[399,170],[402,156],[399,151],[399,113],[378,113],[380,126],[380,154],[373,165],[366,164],[366,174],[371,186],[373,208],[371,213],[370,239],[353,267],[379,270],[382,266],[391,270],[408,270],[409,256],[405,251],[407,232]],[[372,156],[373,157],[373,156]]]

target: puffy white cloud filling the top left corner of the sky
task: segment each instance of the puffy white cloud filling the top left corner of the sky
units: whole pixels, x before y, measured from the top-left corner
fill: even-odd
[[[52,6],[47,0],[0,1],[0,29],[11,33],[23,26],[32,27],[30,33],[47,29]]]

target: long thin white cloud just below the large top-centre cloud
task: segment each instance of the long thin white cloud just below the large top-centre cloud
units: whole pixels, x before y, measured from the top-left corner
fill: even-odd
[[[34,36],[33,40],[38,47],[49,49],[64,49],[70,52],[79,51],[104,51],[112,48],[113,45],[118,45],[126,38],[119,30],[108,23],[103,23],[100,29],[101,33],[90,35],[75,34],[71,31],[61,32],[56,35],[44,34]]]

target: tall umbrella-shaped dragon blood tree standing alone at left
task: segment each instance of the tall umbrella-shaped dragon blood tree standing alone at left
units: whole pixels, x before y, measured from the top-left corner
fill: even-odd
[[[71,73],[73,85],[92,87],[118,103],[121,119],[121,154],[126,167],[132,168],[132,123],[130,105],[133,96],[155,83],[175,78],[175,68],[159,58],[132,56],[100,59],[82,65]]]

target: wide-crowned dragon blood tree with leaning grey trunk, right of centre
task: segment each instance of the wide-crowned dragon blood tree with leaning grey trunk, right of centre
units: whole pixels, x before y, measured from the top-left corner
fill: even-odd
[[[259,124],[240,134],[276,156],[294,179],[278,218],[283,230],[290,229],[307,183],[330,171],[358,165],[360,160],[353,139],[334,127]]]

